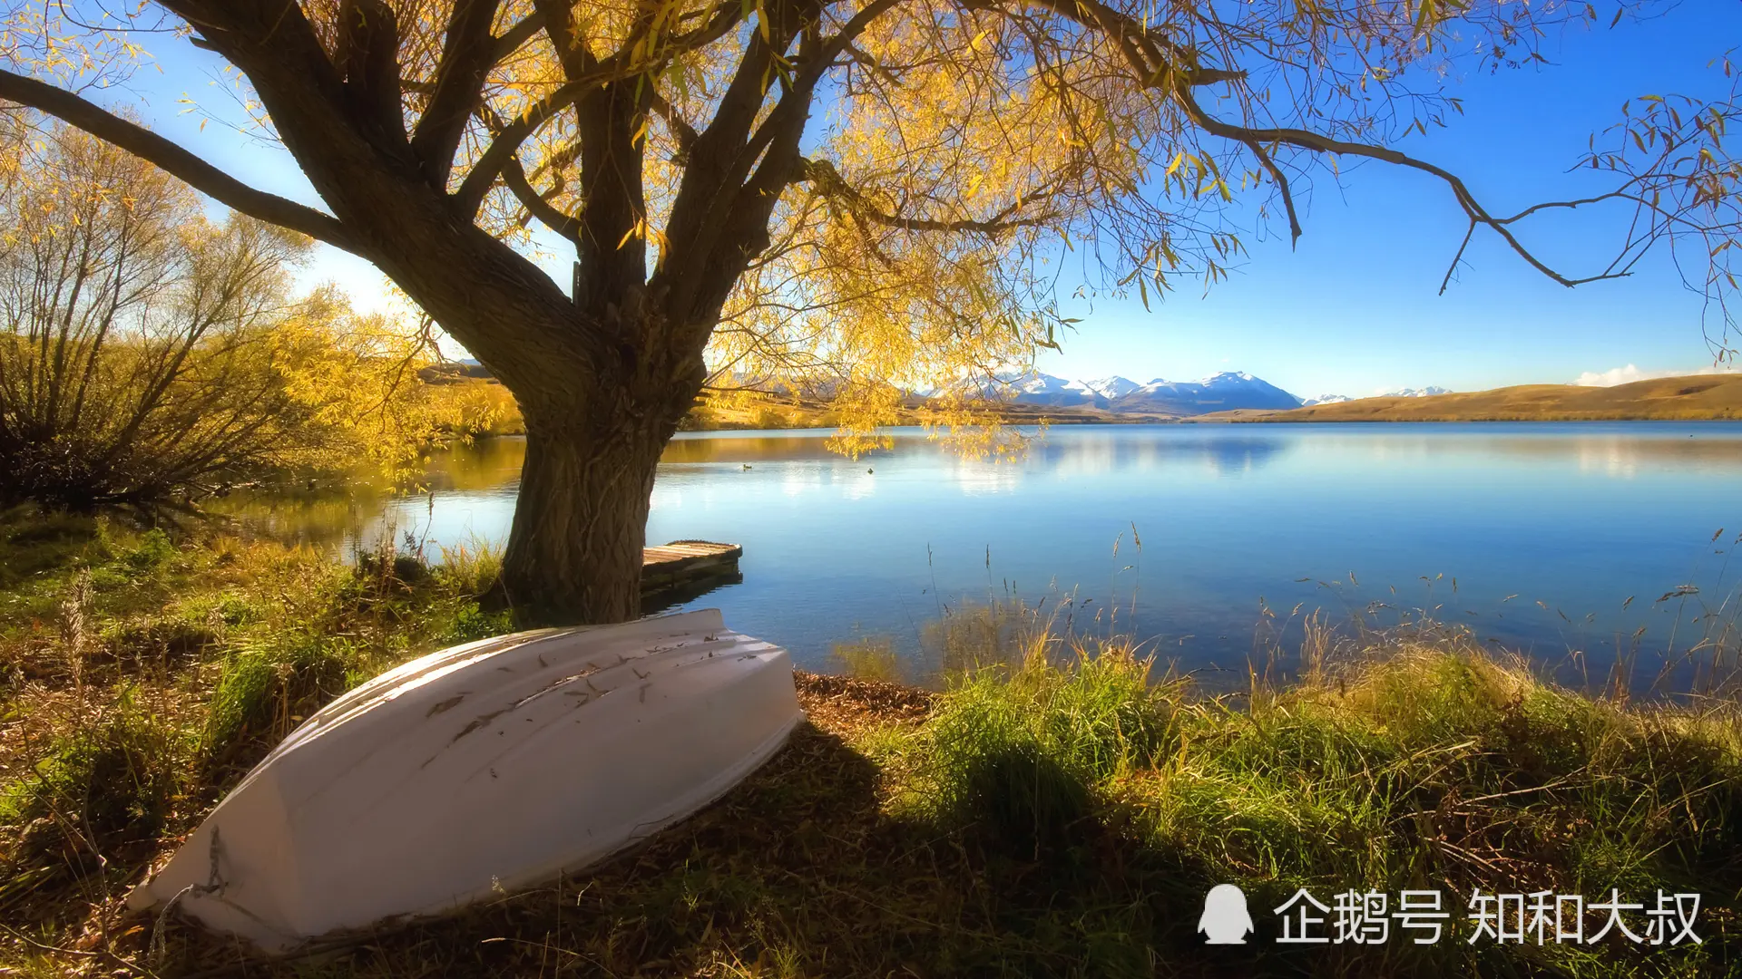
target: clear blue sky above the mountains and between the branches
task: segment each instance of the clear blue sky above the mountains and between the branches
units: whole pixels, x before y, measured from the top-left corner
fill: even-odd
[[[1578,30],[1550,40],[1554,66],[1456,80],[1465,115],[1404,148],[1460,172],[1493,211],[1589,192],[1587,174],[1564,172],[1587,138],[1620,118],[1641,94],[1716,98],[1728,82],[1709,63],[1742,38],[1742,3],[1695,0],[1646,23]],[[153,44],[155,40],[155,44]],[[319,204],[294,162],[246,138],[225,92],[221,63],[167,38],[148,38],[155,68],[132,80],[141,111],[160,132],[256,186]],[[216,120],[188,113],[195,99]],[[131,98],[117,101],[132,101]],[[1620,282],[1564,289],[1528,268],[1491,235],[1477,235],[1444,296],[1441,275],[1463,235],[1449,192],[1427,174],[1362,164],[1340,181],[1313,179],[1305,235],[1242,235],[1249,256],[1207,296],[1181,282],[1150,308],[1129,300],[1066,301],[1084,319],[1043,371],[1092,378],[1124,375],[1193,380],[1251,371],[1300,395],[1364,395],[1395,387],[1481,390],[1510,383],[1566,383],[1580,375],[1711,368],[1700,300],[1681,289],[1665,260]],[[1526,240],[1570,272],[1608,261],[1627,216],[1547,216]],[[552,268],[566,270],[557,256]],[[305,279],[336,280],[362,307],[383,301],[385,279],[362,260],[329,247]],[[566,273],[559,275],[564,280]],[[1061,282],[1070,294],[1073,282]],[[1611,375],[1618,376],[1618,375]]]

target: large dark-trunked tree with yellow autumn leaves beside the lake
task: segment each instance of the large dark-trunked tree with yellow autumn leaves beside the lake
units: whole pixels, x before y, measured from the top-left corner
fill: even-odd
[[[1448,64],[1536,61],[1547,31],[1610,21],[1587,3],[45,7],[12,9],[0,99],[368,258],[516,394],[528,453],[503,582],[519,606],[577,622],[638,610],[655,463],[707,383],[704,352],[716,369],[833,371],[874,420],[892,385],[1050,343],[1049,263],[1144,296],[1181,273],[1214,280],[1240,249],[1223,207],[1251,188],[1300,235],[1315,165],[1423,171],[1472,235],[1568,286],[1624,275],[1660,242],[1693,246],[1691,287],[1733,284],[1733,99],[1639,103],[1592,141],[1604,190],[1514,214],[1399,148],[1456,108]],[[105,44],[165,24],[240,73],[326,213],[84,98],[111,64]],[[1559,272],[1519,239],[1524,218],[1603,202],[1636,213],[1608,268]],[[570,289],[528,258],[535,223],[573,247]]]

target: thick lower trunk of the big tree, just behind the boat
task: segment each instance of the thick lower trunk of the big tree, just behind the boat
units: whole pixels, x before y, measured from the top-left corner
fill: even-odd
[[[500,585],[517,625],[641,615],[653,470],[676,420],[598,401],[523,404],[526,462]]]

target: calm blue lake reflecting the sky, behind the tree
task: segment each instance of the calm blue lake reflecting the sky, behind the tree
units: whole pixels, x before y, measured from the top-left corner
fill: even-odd
[[[650,544],[742,544],[742,584],[683,608],[807,667],[859,638],[916,650],[939,615],[1016,596],[1212,681],[1322,610],[1430,615],[1596,683],[1617,650],[1650,679],[1735,611],[1742,423],[1071,425],[1017,462],[920,430],[848,460],[827,434],[679,434],[648,521]],[[444,453],[420,496],[247,510],[315,544],[500,544],[523,451]]]

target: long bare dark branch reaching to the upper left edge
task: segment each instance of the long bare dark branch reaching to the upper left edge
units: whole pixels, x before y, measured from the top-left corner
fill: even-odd
[[[322,214],[294,200],[247,186],[233,176],[199,159],[192,152],[120,118],[54,85],[0,70],[0,99],[14,101],[45,111],[85,132],[162,167],[193,190],[218,200],[225,207],[260,218],[270,225],[305,233],[315,240],[369,258],[369,249],[336,218]]]

